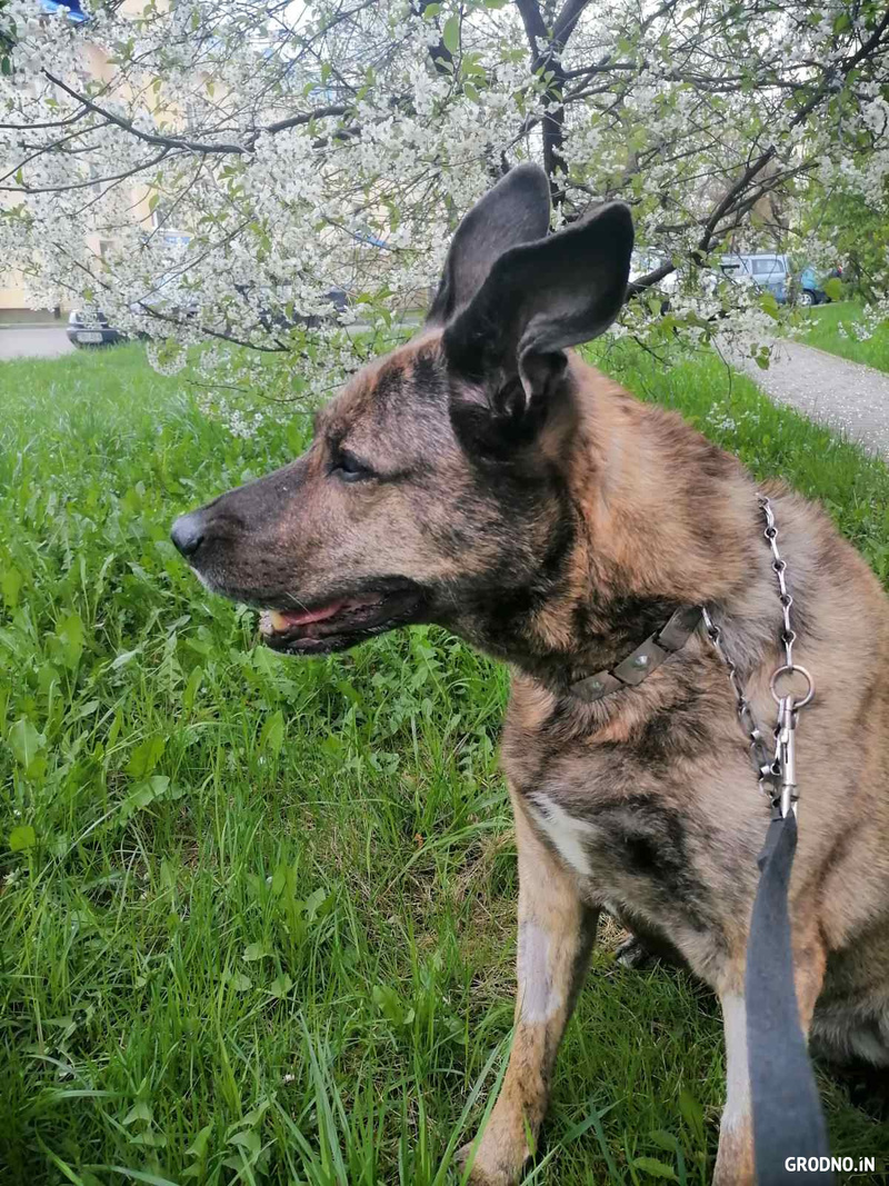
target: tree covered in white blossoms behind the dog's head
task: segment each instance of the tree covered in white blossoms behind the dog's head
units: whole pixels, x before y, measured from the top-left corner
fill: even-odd
[[[556,223],[632,203],[645,256],[623,332],[654,337],[762,314],[749,292],[702,285],[731,246],[836,262],[811,218],[794,225],[813,184],[885,212],[876,0],[109,0],[71,15],[0,7],[0,255],[34,302],[101,306],[155,339],[159,364],[217,343],[202,365],[229,383],[263,355],[293,361],[298,388],[335,382],[369,349],[344,323],[423,307],[454,218],[519,160],[543,164]]]

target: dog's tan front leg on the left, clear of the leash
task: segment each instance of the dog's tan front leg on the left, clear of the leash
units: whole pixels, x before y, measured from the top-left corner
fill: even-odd
[[[595,940],[597,911],[586,906],[574,876],[538,840],[512,796],[518,847],[518,994],[506,1076],[480,1137],[461,1150],[474,1186],[516,1182],[531,1154],[550,1078]],[[478,1146],[478,1148],[477,1148]]]

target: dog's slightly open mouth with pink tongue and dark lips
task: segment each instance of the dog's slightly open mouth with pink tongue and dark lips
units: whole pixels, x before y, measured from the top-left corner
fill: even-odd
[[[372,635],[423,620],[426,594],[410,582],[373,588],[299,608],[263,610],[260,633],[275,651],[324,655],[354,646]]]

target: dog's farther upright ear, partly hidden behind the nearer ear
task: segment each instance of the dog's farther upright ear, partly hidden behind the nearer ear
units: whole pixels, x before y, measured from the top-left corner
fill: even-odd
[[[475,203],[454,232],[426,324],[440,326],[449,321],[472,300],[504,251],[543,238],[549,225],[546,174],[537,165],[510,170]]]

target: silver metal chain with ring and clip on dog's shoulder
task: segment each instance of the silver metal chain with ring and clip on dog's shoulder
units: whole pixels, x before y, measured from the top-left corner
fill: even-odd
[[[744,733],[750,738],[750,758],[756,771],[756,777],[760,780],[760,790],[768,795],[772,802],[772,818],[782,820],[788,811],[793,811],[794,815],[797,812],[797,801],[799,798],[795,793],[797,714],[801,708],[812,702],[814,697],[814,681],[804,667],[793,662],[793,644],[797,640],[797,632],[791,621],[793,597],[787,589],[787,561],[784,560],[778,548],[778,527],[775,525],[772,503],[765,495],[757,495],[756,498],[766,521],[766,529],[762,534],[772,548],[772,570],[778,580],[779,600],[784,613],[784,629],[780,637],[784,645],[785,662],[773,671],[769,681],[772,696],[778,704],[778,721],[773,731],[775,745],[772,754],[769,754],[766,738],[753,715],[750,702],[744,696],[737,665],[725,650],[722,629],[712,620],[706,606],[703,606],[703,618],[710,642],[714,644],[717,655],[729,672],[729,681],[737,700],[737,718]],[[778,688],[779,681],[792,678],[795,675],[802,676],[806,681],[806,690],[802,696],[797,699],[792,693],[781,695]]]

